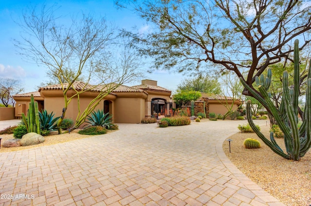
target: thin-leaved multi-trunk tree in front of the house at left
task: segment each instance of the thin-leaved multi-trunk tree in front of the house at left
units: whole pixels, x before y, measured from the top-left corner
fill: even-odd
[[[131,57],[109,58],[108,50],[115,43],[116,31],[104,18],[83,15],[81,19],[72,19],[68,27],[60,22],[61,17],[54,16],[53,7],[43,6],[39,12],[36,9],[26,11],[19,24],[21,40],[15,40],[21,54],[48,68],[59,81],[64,95],[64,108],[57,123],[59,133],[71,101],[78,103],[73,130],[83,124],[106,95],[136,76],[136,65]],[[120,59],[120,62],[111,63],[110,59]],[[83,83],[77,81],[81,75],[86,77]],[[72,90],[74,92],[70,92]],[[83,111],[80,95],[88,91],[96,91],[98,95]]]

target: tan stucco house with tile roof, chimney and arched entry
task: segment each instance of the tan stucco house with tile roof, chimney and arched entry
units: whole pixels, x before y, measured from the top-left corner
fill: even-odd
[[[66,84],[64,85],[66,88]],[[75,82],[76,90],[87,88],[83,82]],[[100,88],[93,88],[80,95],[80,109],[84,111],[87,105],[94,99]],[[74,95],[73,89],[69,90],[68,95]],[[16,118],[21,117],[21,113],[26,113],[29,107],[30,96],[34,95],[38,102],[39,111],[42,109],[48,112],[54,112],[55,116],[61,116],[64,107],[64,96],[61,84],[51,85],[40,88],[37,92],[15,95],[16,100]],[[125,86],[121,85],[110,92],[101,100],[96,109],[109,112],[113,116],[115,123],[140,123],[145,117],[151,117],[154,114],[168,115],[172,107],[170,103],[171,91],[157,86],[157,81],[144,79],[141,85]],[[66,118],[75,120],[78,113],[78,99],[73,98],[66,111]]]

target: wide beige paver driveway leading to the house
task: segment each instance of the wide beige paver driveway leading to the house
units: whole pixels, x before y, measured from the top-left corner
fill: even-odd
[[[0,153],[0,206],[284,206],[225,157],[222,143],[242,122],[119,124],[110,134]]]

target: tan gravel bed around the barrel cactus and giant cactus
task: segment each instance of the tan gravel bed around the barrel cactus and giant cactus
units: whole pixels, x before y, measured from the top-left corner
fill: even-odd
[[[269,135],[269,126],[261,127],[265,136]],[[261,148],[245,149],[243,142],[247,138],[259,140]],[[287,206],[307,206],[311,204],[311,151],[293,161],[282,158],[266,146],[255,133],[237,133],[227,139],[232,139],[231,153],[229,144],[223,143],[226,156],[246,176],[256,184],[278,198]],[[276,142],[284,146],[284,139]]]

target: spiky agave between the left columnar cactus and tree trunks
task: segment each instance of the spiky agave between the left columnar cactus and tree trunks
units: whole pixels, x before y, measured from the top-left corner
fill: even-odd
[[[48,113],[46,110],[39,112],[39,120],[41,125],[41,131],[56,131],[56,122],[60,117],[55,117],[53,112]]]

